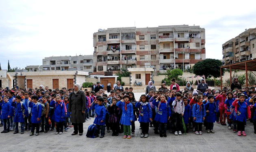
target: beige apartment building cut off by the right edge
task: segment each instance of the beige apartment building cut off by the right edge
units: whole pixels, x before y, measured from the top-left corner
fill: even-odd
[[[250,28],[222,44],[223,64],[232,64],[256,58],[256,28]]]

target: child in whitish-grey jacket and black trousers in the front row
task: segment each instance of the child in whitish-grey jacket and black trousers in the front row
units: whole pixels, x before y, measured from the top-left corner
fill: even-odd
[[[173,101],[173,114],[172,117],[174,119],[174,135],[182,135],[182,116],[184,115],[185,106],[181,98],[181,94],[177,92],[175,94],[176,100]]]

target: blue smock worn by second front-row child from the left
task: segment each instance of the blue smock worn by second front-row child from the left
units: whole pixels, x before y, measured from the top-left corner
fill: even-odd
[[[24,115],[28,115],[28,108],[25,106],[24,103],[17,103],[17,102],[12,102],[11,105],[15,107],[15,115],[14,115],[14,122],[25,122],[23,118],[23,110],[24,110]]]

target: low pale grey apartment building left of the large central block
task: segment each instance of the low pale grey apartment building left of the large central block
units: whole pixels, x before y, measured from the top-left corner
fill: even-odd
[[[28,71],[87,71],[93,72],[93,55],[52,56],[43,59],[41,66],[26,66]]]

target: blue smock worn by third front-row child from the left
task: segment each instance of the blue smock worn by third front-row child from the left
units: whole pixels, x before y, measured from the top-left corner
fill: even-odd
[[[37,121],[37,118],[41,118],[41,114],[42,114],[42,106],[40,103],[33,103],[30,102],[28,104],[28,107],[31,108],[31,123],[33,124],[39,124],[41,121],[41,119],[39,121]]]

